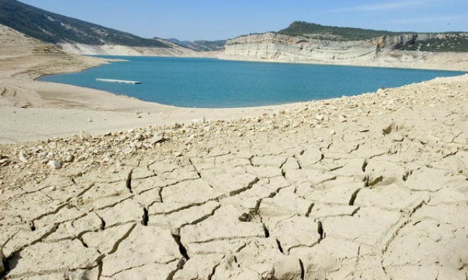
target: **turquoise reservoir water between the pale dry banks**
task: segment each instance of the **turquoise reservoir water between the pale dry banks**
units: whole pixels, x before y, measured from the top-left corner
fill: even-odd
[[[40,80],[92,87],[160,104],[225,108],[356,95],[464,73],[205,58],[105,57],[129,61]],[[141,80],[142,84],[103,83],[96,78]]]

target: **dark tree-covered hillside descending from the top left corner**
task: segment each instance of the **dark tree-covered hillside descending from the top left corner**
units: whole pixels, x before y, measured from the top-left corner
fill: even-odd
[[[0,0],[0,24],[46,43],[172,48],[163,41],[57,15],[15,0]]]

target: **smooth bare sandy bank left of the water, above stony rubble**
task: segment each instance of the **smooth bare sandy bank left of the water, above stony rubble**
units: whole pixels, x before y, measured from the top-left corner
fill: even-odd
[[[25,59],[27,61],[27,59]],[[20,63],[18,59],[17,63]],[[18,65],[18,64],[17,64]],[[74,68],[73,70],[81,70]],[[6,87],[0,99],[0,144],[67,137],[86,130],[102,134],[149,125],[190,123],[193,120],[255,117],[263,113],[291,109],[300,104],[238,109],[188,109],[118,96],[85,87],[31,80],[39,75],[22,69],[18,76],[0,77]],[[72,71],[67,67],[59,71]],[[9,94],[8,90],[13,94]],[[25,107],[25,108],[22,108]],[[24,120],[29,120],[25,122]],[[40,130],[37,127],[41,127]]]

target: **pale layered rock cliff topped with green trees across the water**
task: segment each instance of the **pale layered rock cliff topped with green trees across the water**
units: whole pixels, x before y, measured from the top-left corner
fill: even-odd
[[[468,69],[468,52],[422,52],[425,42],[460,41],[468,34],[398,34],[369,40],[339,40],[331,35],[289,36],[268,32],[230,39],[223,58],[368,66]],[[456,40],[455,40],[456,39]],[[428,66],[429,64],[429,66]]]

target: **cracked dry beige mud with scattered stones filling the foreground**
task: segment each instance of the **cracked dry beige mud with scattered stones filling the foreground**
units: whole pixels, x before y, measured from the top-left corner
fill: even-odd
[[[251,120],[57,139],[41,145],[104,150],[52,171],[15,160],[39,143],[4,146],[0,270],[5,279],[467,279],[466,92],[467,76],[443,78]],[[153,130],[166,141],[99,161],[122,134]]]

